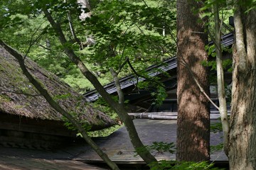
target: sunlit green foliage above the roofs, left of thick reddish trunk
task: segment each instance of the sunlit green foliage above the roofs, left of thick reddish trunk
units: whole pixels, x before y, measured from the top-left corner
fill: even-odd
[[[3,1],[0,8],[0,36],[10,45],[27,54],[42,67],[58,75],[73,88],[85,93],[93,89],[78,69],[63,55],[63,47],[41,12],[48,8],[63,28],[69,47],[87,62],[102,84],[112,81],[109,68],[118,69],[126,57],[134,69],[143,70],[151,64],[174,55],[176,46],[174,4],[168,1],[90,1],[92,17],[80,21],[81,6],[75,0],[63,1]],[[80,41],[95,39],[95,45],[84,45],[80,50],[73,40],[67,13],[71,13],[75,33]],[[166,36],[163,36],[165,28]],[[169,36],[171,35],[171,36]],[[125,65],[119,77],[131,74]]]

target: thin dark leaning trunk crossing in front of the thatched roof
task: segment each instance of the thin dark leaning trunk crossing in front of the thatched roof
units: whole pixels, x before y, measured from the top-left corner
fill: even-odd
[[[48,91],[46,89],[43,88],[43,86],[40,84],[40,82],[38,82],[33,76],[32,74],[30,74],[30,72],[28,72],[28,69],[26,69],[26,65],[24,64],[24,60],[23,60],[23,56],[20,55],[18,52],[16,52],[16,50],[12,49],[11,47],[9,47],[8,45],[6,45],[2,40],[0,40],[0,44],[8,51],[10,52],[11,55],[13,55],[17,60],[18,63],[21,66],[21,69],[23,71],[23,74],[26,75],[26,77],[28,78],[28,80],[31,82],[31,84],[33,84],[33,86],[36,87],[36,89],[40,92],[40,94],[46,98],[46,101],[48,101],[48,103],[50,104],[50,106],[52,106],[55,111],[58,111],[61,115],[65,116],[65,118],[67,118],[70,123],[72,123],[77,129],[78,131],[82,134],[82,137],[84,138],[84,140],[92,147],[92,149],[95,150],[95,152],[107,163],[107,165],[110,166],[111,169],[119,169],[117,164],[115,164],[114,162],[112,162],[110,160],[109,157],[107,157],[107,154],[105,154],[105,152],[102,152],[102,149],[100,149],[100,147],[98,147],[95,142],[93,142],[93,140],[87,135],[87,132],[84,130],[84,128],[82,128],[82,125],[80,125],[80,123],[78,123],[78,120],[75,120],[75,118],[73,118],[72,115],[70,115],[67,111],[65,111],[63,108],[61,108],[57,102],[55,102],[53,100],[53,98],[50,96],[50,94],[48,94]]]

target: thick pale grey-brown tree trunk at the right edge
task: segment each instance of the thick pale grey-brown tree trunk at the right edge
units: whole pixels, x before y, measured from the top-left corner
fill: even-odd
[[[236,3],[236,1],[235,1]],[[230,169],[256,169],[256,10],[235,5]]]

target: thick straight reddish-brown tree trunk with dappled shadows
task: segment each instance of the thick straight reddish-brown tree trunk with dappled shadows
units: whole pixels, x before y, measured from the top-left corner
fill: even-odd
[[[209,94],[208,73],[201,65],[207,60],[205,45],[207,34],[203,22],[195,12],[196,1],[177,2],[178,39],[178,129],[176,160],[209,160],[210,111],[209,103],[194,79]]]

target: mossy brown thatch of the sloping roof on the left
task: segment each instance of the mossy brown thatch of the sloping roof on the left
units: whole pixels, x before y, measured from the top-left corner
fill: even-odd
[[[57,98],[60,106],[63,106],[66,111],[78,113],[81,120],[86,120],[97,128],[114,125],[114,121],[107,115],[92,108],[89,103],[85,103],[80,94],[73,91],[68,84],[60,81],[54,74],[41,69],[28,58],[26,66],[34,77],[46,86],[50,94]],[[34,96],[24,95],[24,93]],[[53,110],[43,96],[35,96],[35,94],[38,92],[23,75],[15,57],[0,46],[0,112],[41,120],[63,120],[62,115]]]

